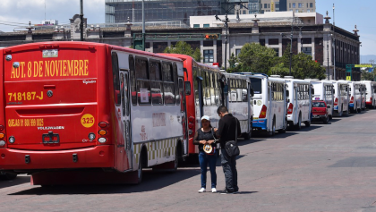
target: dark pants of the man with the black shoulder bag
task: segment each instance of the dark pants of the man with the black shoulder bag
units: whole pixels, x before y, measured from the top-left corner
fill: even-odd
[[[229,157],[226,149],[221,149],[221,164],[226,179],[226,189],[229,192],[239,191],[237,187],[236,157]]]

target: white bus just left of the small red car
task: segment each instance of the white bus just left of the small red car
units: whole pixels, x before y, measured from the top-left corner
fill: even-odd
[[[302,128],[302,123],[309,127],[311,125],[312,110],[312,87],[311,81],[293,79],[285,77],[287,96],[287,121],[289,127]]]

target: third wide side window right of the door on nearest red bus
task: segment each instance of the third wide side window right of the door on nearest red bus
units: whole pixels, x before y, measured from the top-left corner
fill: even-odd
[[[175,84],[171,64],[163,64],[163,88],[165,92],[165,104],[175,105]]]

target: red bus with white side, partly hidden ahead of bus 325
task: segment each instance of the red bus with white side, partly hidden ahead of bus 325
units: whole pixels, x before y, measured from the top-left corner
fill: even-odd
[[[184,61],[185,88],[192,90],[185,96],[188,125],[188,153],[195,156],[199,153],[197,145],[193,145],[193,137],[201,128],[201,117],[209,115],[210,123],[218,128],[218,106],[225,106],[226,78],[218,67],[197,63],[191,56],[177,54],[161,54],[180,58]]]

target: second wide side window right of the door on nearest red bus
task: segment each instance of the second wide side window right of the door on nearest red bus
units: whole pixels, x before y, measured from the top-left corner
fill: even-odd
[[[150,85],[151,85],[151,102],[153,105],[163,105],[163,86],[160,63],[150,61]]]

